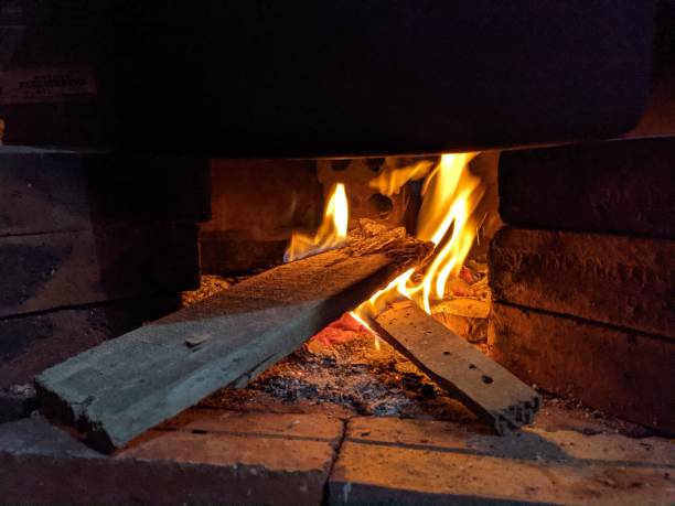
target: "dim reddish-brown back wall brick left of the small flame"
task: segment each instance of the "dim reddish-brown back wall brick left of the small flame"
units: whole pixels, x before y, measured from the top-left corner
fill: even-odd
[[[213,160],[213,217],[200,226],[203,272],[236,274],[281,262],[294,229],[321,220],[315,162]]]

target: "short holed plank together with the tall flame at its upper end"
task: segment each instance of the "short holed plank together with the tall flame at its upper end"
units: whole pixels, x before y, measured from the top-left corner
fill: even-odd
[[[430,316],[432,304],[448,304],[448,293],[476,294],[481,291],[479,286],[488,290],[486,279],[475,279],[472,271],[462,267],[475,237],[472,214],[484,192],[480,179],[468,169],[474,155],[441,157],[425,181],[418,238],[435,245],[429,265],[424,271],[404,272],[361,304],[355,314],[503,433],[532,422],[539,408],[539,396]],[[399,301],[405,299],[410,302],[400,305]],[[389,308],[392,304],[394,309]],[[485,304],[476,302],[471,309],[479,311],[471,314],[486,316]]]

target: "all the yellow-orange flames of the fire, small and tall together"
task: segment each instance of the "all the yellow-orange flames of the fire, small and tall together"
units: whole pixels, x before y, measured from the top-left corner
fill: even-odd
[[[386,306],[409,299],[431,313],[431,304],[446,295],[446,284],[462,268],[475,239],[478,223],[473,212],[485,189],[481,179],[471,174],[469,162],[478,153],[443,154],[437,163],[422,161],[408,168],[385,170],[371,181],[369,186],[392,195],[410,180],[426,177],[422,185],[422,205],[417,224],[417,238],[433,243],[430,263],[424,271],[409,269],[386,288],[375,292],[351,312],[351,316],[368,329],[379,349],[379,337],[367,322]],[[321,226],[308,236],[293,233],[285,260],[291,261],[336,248],[346,243],[349,207],[344,184],[332,190]]]

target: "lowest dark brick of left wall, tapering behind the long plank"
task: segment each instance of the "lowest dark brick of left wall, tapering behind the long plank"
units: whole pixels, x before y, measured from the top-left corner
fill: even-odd
[[[0,389],[33,376],[180,305],[179,295],[132,299],[0,319]]]

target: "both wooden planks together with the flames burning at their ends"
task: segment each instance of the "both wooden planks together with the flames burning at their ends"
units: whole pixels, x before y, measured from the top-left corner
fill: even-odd
[[[45,370],[36,378],[44,405],[100,448],[119,448],[218,388],[245,386],[407,269],[357,308],[358,321],[373,322],[497,432],[532,421],[538,396],[430,316],[448,281],[461,280],[475,237],[472,213],[483,190],[467,168],[473,155],[443,155],[430,169],[417,239],[368,220],[347,236],[346,194],[338,184],[317,234],[293,235],[286,257],[301,260]],[[401,298],[413,303],[387,309]]]

